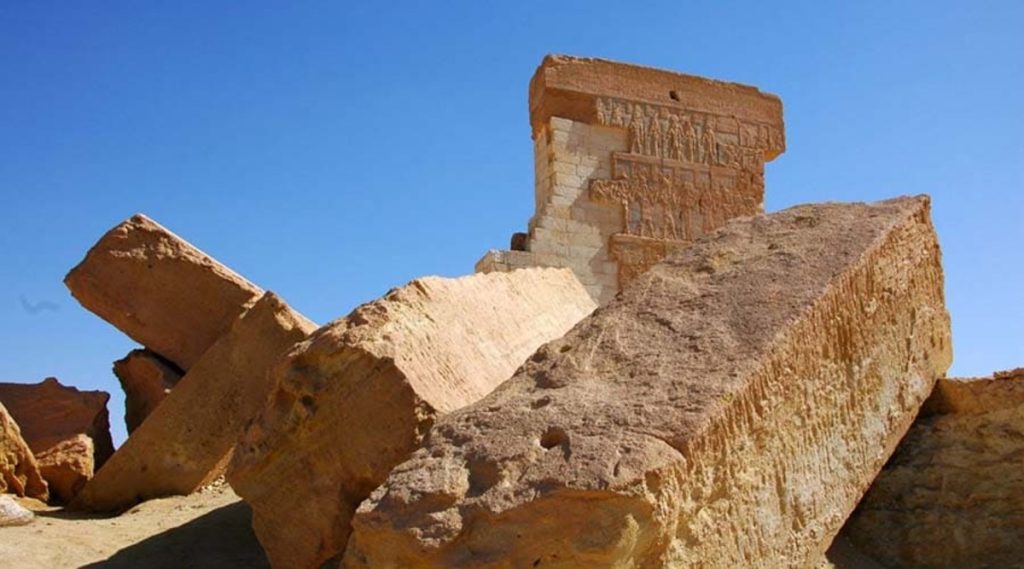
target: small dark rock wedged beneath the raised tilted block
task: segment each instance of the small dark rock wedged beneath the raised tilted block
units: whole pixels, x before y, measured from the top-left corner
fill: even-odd
[[[125,392],[125,425],[131,434],[157,408],[184,371],[150,350],[132,350],[114,362]]]

